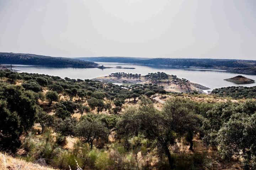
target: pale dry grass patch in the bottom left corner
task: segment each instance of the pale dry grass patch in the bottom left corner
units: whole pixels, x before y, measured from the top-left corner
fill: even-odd
[[[0,153],[0,170],[57,170]]]

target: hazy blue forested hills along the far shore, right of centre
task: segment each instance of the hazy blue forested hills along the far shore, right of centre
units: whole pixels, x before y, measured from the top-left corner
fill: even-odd
[[[94,62],[133,63],[174,68],[223,69],[234,73],[256,75],[256,61],[196,58],[133,58],[133,57],[85,57]]]

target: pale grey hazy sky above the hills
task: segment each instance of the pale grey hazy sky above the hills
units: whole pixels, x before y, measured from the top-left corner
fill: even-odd
[[[256,60],[256,0],[0,0],[0,52]]]

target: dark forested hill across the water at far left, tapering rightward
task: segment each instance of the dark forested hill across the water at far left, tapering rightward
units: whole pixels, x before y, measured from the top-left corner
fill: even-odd
[[[50,67],[94,68],[98,64],[64,57],[0,52],[0,64],[28,64]]]

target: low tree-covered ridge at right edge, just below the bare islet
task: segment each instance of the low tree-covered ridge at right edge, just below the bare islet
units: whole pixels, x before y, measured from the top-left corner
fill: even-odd
[[[256,86],[244,87],[244,86],[230,86],[214,89],[212,94],[221,97],[232,97],[235,99],[241,98],[256,98]]]

